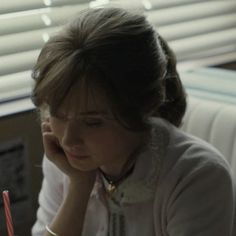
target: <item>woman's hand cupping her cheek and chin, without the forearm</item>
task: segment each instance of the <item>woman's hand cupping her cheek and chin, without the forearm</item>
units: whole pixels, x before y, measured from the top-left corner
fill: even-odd
[[[71,181],[93,184],[96,171],[83,172],[70,165],[57,137],[52,132],[49,118],[42,122],[41,128],[47,158],[64,172]]]

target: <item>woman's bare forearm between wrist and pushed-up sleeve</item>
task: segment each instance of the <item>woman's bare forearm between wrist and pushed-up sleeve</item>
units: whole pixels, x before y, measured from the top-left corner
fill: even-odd
[[[68,194],[59,208],[50,229],[59,236],[80,236],[91,192],[83,183],[71,183]],[[51,236],[46,232],[45,236]]]

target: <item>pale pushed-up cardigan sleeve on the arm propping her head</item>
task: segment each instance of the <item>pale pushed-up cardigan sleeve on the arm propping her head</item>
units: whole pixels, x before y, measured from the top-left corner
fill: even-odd
[[[46,157],[43,159],[43,182],[39,193],[37,220],[32,236],[43,236],[63,199],[63,173]]]

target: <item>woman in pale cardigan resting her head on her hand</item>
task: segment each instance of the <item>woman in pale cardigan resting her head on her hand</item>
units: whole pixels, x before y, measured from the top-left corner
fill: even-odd
[[[231,236],[230,168],[179,130],[175,57],[144,16],[81,12],[42,49],[44,180],[33,236]]]

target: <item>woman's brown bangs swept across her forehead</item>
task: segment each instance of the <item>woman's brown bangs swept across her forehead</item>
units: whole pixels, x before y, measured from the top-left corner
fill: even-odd
[[[94,87],[91,80],[96,80],[94,77],[97,77],[98,73],[88,64],[85,66],[84,58],[78,57],[75,60],[74,57],[76,53],[56,63],[52,62],[50,66],[48,62],[44,63],[43,58],[41,63],[38,62],[38,69],[36,68],[33,72],[33,78],[37,83],[32,100],[36,106],[47,104],[50,111],[56,113],[65,97],[76,85],[78,99],[81,100],[81,106],[85,109],[88,97],[92,94],[92,87]]]

